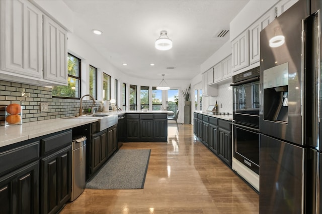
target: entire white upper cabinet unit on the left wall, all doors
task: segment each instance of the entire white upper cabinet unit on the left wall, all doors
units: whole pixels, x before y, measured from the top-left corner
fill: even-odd
[[[67,85],[67,32],[27,0],[0,0],[0,80]]]

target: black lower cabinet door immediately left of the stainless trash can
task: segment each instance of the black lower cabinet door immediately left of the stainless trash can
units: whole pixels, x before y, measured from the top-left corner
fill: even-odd
[[[70,198],[71,145],[40,159],[40,212],[57,213]]]

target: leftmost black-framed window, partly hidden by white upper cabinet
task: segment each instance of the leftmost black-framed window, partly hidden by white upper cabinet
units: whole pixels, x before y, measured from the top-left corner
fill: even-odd
[[[68,53],[68,85],[54,86],[52,96],[59,98],[81,98],[81,59]]]

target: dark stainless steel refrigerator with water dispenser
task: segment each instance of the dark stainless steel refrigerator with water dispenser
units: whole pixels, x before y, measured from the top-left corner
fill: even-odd
[[[260,213],[322,213],[322,0],[261,31]]]

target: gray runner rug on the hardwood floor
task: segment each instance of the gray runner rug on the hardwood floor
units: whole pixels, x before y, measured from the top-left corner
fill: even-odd
[[[86,183],[90,189],[142,189],[150,149],[120,149]]]

